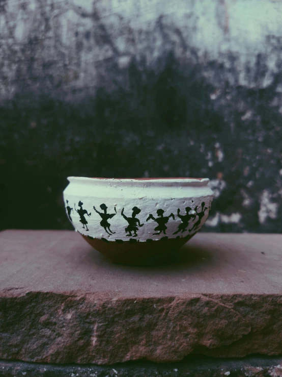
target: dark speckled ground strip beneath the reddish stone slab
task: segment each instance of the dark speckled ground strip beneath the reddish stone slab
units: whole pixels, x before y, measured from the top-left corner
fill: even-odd
[[[123,365],[54,365],[0,361],[2,377],[281,377],[282,358],[214,360],[194,357],[173,364],[128,362]]]

